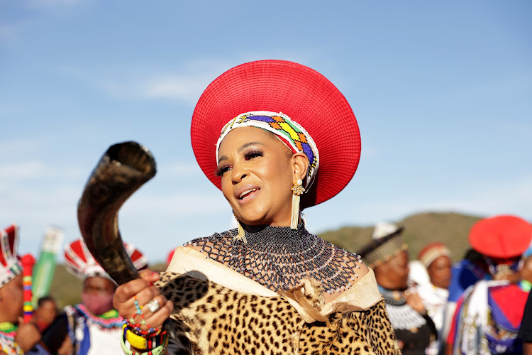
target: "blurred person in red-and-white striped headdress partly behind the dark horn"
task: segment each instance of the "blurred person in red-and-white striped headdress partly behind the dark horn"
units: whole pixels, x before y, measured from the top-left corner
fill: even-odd
[[[126,244],[126,251],[135,268],[142,270],[148,266],[135,246]],[[72,354],[122,354],[123,318],[113,308],[116,283],[96,263],[82,240],[65,248],[65,264],[68,271],[83,280],[82,302],[65,307]]]

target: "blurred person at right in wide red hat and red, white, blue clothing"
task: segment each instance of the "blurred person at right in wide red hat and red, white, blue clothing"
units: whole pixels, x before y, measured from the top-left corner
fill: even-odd
[[[523,252],[532,239],[532,225],[514,216],[482,219],[471,229],[471,246],[484,255],[493,280],[467,288],[457,303],[450,328],[448,354],[521,354],[517,338],[528,292],[528,262]]]

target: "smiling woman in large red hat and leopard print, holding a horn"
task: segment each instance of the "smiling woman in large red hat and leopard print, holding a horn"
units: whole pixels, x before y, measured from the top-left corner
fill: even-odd
[[[126,354],[162,354],[168,317],[170,353],[394,354],[373,272],[301,219],[358,166],[358,125],[338,89],[294,62],[239,65],[201,95],[191,135],[238,228],[177,248],[161,280],[118,288]]]

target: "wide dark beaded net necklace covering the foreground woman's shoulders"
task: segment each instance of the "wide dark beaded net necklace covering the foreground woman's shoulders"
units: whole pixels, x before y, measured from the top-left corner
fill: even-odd
[[[208,258],[276,292],[294,288],[301,278],[309,276],[331,294],[347,290],[351,287],[349,280],[358,278],[355,270],[360,268],[360,256],[309,234],[304,223],[297,230],[247,226],[247,242],[235,241],[237,234],[237,229],[232,229],[187,244],[200,246]]]

